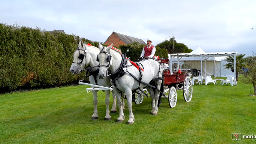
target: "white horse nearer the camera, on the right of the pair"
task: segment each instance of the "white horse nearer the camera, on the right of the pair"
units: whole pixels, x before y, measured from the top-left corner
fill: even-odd
[[[143,76],[141,77],[142,78],[141,82],[139,82],[135,78],[140,79],[140,72],[137,69],[137,67],[131,64],[130,61],[127,61],[126,67],[119,67],[120,65],[124,64],[123,62],[124,59],[123,59],[123,56],[120,55],[119,51],[115,49],[111,49],[112,45],[108,47],[105,47],[105,46],[103,47],[101,44],[99,44],[99,49],[101,51],[97,56],[97,60],[100,62],[100,71],[99,71],[100,79],[104,79],[109,74],[111,77],[111,73],[108,73],[109,70],[112,72],[112,75],[116,75],[116,73],[118,75],[118,73],[124,73],[126,71],[126,73],[121,77],[119,76],[111,77],[111,80],[114,86],[112,93],[116,95],[117,103],[119,106],[119,117],[117,118],[116,122],[123,122],[125,119],[125,116],[122,110],[122,103],[120,99],[121,92],[125,92],[126,98],[127,98],[127,106],[130,113],[127,124],[134,123],[135,119],[132,113],[132,91],[136,90],[139,86],[143,88],[147,86],[146,84],[156,86],[155,88],[147,86],[146,89],[149,92],[150,97],[152,99],[151,113],[153,115],[157,115],[158,99],[159,99],[158,90],[160,90],[160,87],[162,85],[162,77],[163,77],[161,65],[153,59],[140,61],[140,64],[142,64],[144,67],[144,71],[141,71]],[[119,70],[123,70],[123,71],[120,72]]]

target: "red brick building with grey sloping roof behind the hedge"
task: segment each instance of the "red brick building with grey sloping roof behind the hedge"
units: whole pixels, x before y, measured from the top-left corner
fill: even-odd
[[[119,45],[126,45],[137,42],[138,44],[147,45],[142,39],[133,38],[127,35],[119,34],[117,32],[112,32],[112,34],[104,42],[106,45],[113,43],[113,46],[119,47]]]

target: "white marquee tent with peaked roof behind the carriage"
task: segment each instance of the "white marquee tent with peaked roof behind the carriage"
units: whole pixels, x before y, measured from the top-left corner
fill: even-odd
[[[224,64],[227,63],[224,58],[231,56],[235,61],[237,54],[238,52],[204,52],[198,46],[190,53],[168,54],[168,57],[170,67],[176,66],[174,69],[179,69],[179,67],[184,69],[186,67],[185,69],[200,70],[204,76],[227,77],[233,75],[235,77],[235,73],[232,73],[230,69],[224,69]],[[173,70],[173,68],[170,70]]]

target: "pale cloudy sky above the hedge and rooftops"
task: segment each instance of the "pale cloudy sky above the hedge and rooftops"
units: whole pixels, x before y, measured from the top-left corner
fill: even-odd
[[[1,1],[0,23],[99,42],[112,32],[151,38],[153,45],[174,35],[190,49],[256,52],[255,0],[12,0]]]

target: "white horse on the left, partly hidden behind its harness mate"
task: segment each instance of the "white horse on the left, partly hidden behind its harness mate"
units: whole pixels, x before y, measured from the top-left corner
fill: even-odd
[[[106,79],[99,79],[99,76],[97,74],[98,73],[97,70],[99,70],[99,68],[98,68],[99,62],[96,61],[96,57],[97,57],[98,53],[99,53],[99,49],[97,47],[88,46],[85,43],[83,43],[83,41],[79,41],[79,46],[77,47],[76,51],[74,52],[74,61],[71,65],[71,67],[70,67],[70,71],[73,74],[77,74],[77,73],[80,72],[79,70],[81,70],[84,66],[86,66],[87,64],[90,64],[91,67],[94,67],[90,70],[90,72],[92,73],[92,75],[89,76],[90,83],[96,85],[96,81],[97,81],[98,85],[105,86],[105,87],[110,87],[111,83],[110,83],[109,77],[107,76]],[[98,119],[97,92],[98,92],[98,90],[93,90],[92,91],[93,103],[94,103],[94,111],[93,111],[92,119]],[[106,93],[106,99],[105,99],[106,116],[105,116],[105,120],[110,120],[111,119],[111,116],[109,115],[109,104],[110,104],[109,95],[110,95],[110,91],[105,90],[105,93]],[[123,99],[123,109],[124,109],[124,99]],[[112,109],[111,109],[111,113],[116,113],[116,97],[114,95],[113,95],[113,106],[112,106]]]

